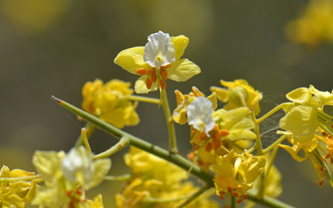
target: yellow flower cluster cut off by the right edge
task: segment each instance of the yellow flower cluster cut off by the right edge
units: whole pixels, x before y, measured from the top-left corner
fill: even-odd
[[[285,117],[280,120],[280,127],[286,131],[278,133],[285,134],[293,146],[279,146],[297,161],[304,161],[309,157],[318,174],[319,186],[323,186],[323,179],[328,179],[333,186],[325,160],[330,158],[330,163],[333,163],[333,117],[324,112],[325,105],[333,105],[333,91],[319,91],[310,85],[309,88],[295,89],[286,97],[292,101],[285,108]],[[319,142],[323,142],[327,149],[323,150]],[[304,157],[298,156],[301,149],[305,153]],[[319,150],[326,154],[322,156]]]

